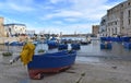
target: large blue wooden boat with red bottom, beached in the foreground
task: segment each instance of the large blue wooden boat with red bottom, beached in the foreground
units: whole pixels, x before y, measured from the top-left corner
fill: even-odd
[[[29,78],[41,79],[44,73],[66,70],[75,62],[75,50],[34,55],[33,61],[27,64]]]

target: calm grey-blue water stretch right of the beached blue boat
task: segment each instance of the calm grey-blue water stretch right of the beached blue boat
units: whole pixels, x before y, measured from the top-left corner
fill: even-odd
[[[100,42],[93,40],[87,46],[81,46],[78,61],[99,62],[102,60],[131,60],[131,50],[123,48],[122,43],[112,43],[112,49],[100,49]]]

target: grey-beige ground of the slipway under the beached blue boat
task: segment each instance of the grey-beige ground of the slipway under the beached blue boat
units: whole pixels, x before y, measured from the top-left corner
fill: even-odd
[[[43,80],[31,80],[21,61],[9,64],[10,58],[0,55],[0,83],[131,83],[130,61],[104,63],[75,62],[69,70],[45,74]]]

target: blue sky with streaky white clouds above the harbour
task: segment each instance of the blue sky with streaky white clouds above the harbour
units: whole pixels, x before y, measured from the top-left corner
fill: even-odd
[[[4,24],[25,24],[36,33],[88,34],[107,10],[126,0],[0,0]]]

